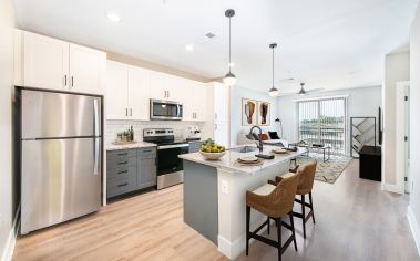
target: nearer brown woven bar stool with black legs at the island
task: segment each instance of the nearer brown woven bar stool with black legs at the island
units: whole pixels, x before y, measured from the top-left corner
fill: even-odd
[[[299,176],[298,174],[295,174],[290,177],[283,178],[277,186],[266,184],[254,191],[246,191],[246,255],[248,255],[249,239],[252,238],[277,248],[278,260],[281,260],[283,252],[291,242],[295,243],[295,250],[297,251],[293,206],[298,182]],[[268,217],[267,220],[254,232],[249,231],[250,208]],[[287,215],[290,218],[290,225],[281,221],[281,218]],[[257,234],[266,225],[269,230],[269,219],[274,219],[277,223],[277,242]],[[291,236],[283,246],[281,227],[285,227],[291,231]]]

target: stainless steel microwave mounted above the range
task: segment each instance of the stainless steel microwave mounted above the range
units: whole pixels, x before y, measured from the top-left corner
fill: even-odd
[[[151,98],[151,119],[181,121],[182,117],[182,103]]]

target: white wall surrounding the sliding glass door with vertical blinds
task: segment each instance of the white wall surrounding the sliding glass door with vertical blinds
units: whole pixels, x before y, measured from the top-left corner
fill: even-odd
[[[284,138],[289,142],[297,142],[298,138],[296,107],[297,105],[295,102],[296,100],[341,95],[348,96],[347,126],[349,126],[350,124],[350,117],[376,117],[378,115],[378,107],[381,106],[381,86],[348,88],[334,92],[315,93],[305,96],[280,96],[278,97],[278,116],[283,122]],[[349,142],[349,138],[347,139]],[[349,146],[347,146],[346,152],[350,152]]]

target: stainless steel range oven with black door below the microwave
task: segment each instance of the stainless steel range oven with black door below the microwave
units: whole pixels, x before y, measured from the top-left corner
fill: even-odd
[[[157,145],[157,189],[183,182],[183,160],[181,154],[187,154],[189,144],[175,140],[171,128],[147,128],[143,130],[143,140]]]

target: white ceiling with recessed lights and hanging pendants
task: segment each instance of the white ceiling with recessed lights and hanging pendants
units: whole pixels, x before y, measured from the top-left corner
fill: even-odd
[[[135,56],[205,77],[227,72],[233,8],[233,73],[237,85],[270,87],[277,42],[280,92],[380,85],[385,54],[408,43],[418,0],[14,0],[21,28]],[[107,20],[114,11],[121,21]],[[216,38],[194,50],[213,32]],[[295,77],[297,81],[284,81]]]

